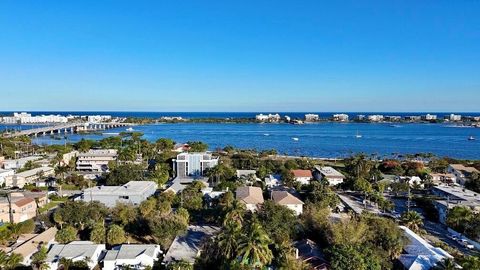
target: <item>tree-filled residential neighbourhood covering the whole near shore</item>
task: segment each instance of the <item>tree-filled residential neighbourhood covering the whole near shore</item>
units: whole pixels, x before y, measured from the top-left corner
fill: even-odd
[[[475,161],[209,152],[202,142],[150,143],[135,133],[58,147],[2,140],[20,156],[0,158],[2,250],[21,255],[19,265],[432,269],[466,265],[480,247]],[[459,211],[468,219],[454,220]],[[259,247],[262,259],[240,246]]]

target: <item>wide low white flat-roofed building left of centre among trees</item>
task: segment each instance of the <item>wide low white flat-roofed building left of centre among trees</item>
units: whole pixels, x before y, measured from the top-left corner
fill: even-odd
[[[117,203],[139,205],[157,191],[157,183],[153,181],[130,181],[123,186],[97,186],[83,191],[82,200],[99,201],[107,207]]]

